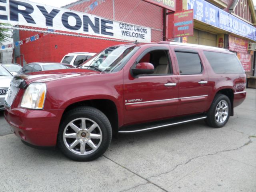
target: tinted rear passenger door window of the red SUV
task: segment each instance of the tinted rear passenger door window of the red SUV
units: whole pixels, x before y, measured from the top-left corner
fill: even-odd
[[[200,74],[202,65],[197,53],[176,52],[180,74]]]

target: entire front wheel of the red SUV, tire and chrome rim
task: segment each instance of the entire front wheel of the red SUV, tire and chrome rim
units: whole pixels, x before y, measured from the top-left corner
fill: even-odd
[[[58,147],[68,158],[90,161],[108,149],[112,129],[108,118],[92,107],[75,108],[64,115],[58,132]]]

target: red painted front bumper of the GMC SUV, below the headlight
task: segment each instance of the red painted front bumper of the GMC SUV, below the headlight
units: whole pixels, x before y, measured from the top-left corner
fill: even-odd
[[[63,112],[14,108],[6,109],[4,117],[22,140],[36,146],[55,146]]]

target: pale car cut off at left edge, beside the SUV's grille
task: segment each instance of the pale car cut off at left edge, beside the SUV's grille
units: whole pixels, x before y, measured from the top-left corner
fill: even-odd
[[[0,65],[0,110],[4,110],[4,98],[12,80],[12,74]]]

